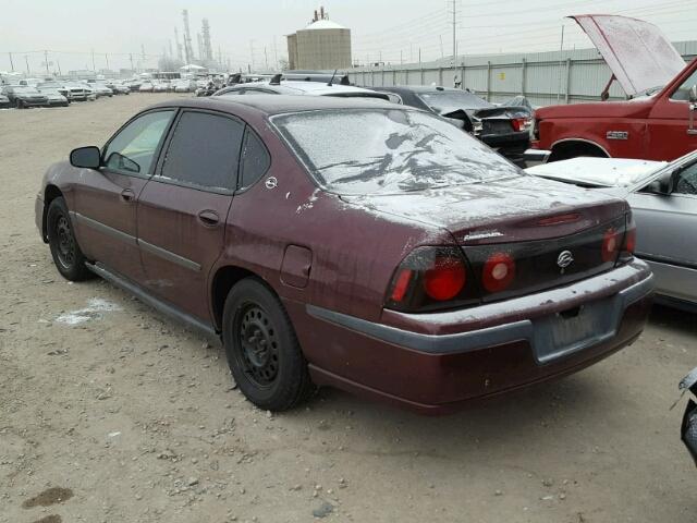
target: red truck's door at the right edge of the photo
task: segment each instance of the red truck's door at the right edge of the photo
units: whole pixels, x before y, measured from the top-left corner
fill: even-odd
[[[697,70],[673,93],[656,101],[648,120],[647,159],[670,161],[697,149],[697,130],[689,129],[689,89],[694,85],[697,85]]]

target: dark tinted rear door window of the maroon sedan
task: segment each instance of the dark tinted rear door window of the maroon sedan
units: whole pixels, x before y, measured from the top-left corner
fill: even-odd
[[[244,135],[239,120],[184,112],[170,142],[160,175],[201,187],[233,191]]]

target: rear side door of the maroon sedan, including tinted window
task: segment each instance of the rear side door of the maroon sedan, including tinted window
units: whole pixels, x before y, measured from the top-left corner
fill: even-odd
[[[208,273],[220,256],[236,186],[244,123],[184,110],[138,200],[146,287],[208,321]]]

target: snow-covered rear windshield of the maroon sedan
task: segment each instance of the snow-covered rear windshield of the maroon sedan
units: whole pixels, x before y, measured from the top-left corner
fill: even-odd
[[[522,174],[442,119],[404,109],[281,114],[273,123],[320,186],[376,194],[465,185]]]

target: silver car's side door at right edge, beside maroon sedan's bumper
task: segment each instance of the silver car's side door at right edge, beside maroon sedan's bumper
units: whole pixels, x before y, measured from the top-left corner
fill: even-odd
[[[637,224],[636,254],[651,265],[658,292],[697,296],[697,163],[680,174],[671,195],[634,193],[627,198]]]

